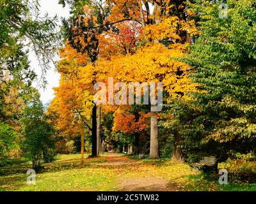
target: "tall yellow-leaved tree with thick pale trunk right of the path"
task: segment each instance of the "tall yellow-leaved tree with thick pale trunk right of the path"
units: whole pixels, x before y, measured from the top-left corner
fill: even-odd
[[[141,78],[137,82],[163,81],[164,89],[170,94],[170,98],[186,98],[185,93],[189,89],[194,89],[193,85],[188,85],[189,78],[186,77],[189,66],[175,60],[175,57],[184,55],[186,52],[186,46],[184,45],[190,41],[193,34],[198,33],[194,21],[188,20],[187,18],[188,13],[185,12],[184,2],[111,1],[113,7],[111,8],[111,15],[108,18],[112,22],[134,21],[141,25],[143,29],[141,43],[146,43],[144,45],[145,48],[138,50],[136,54],[132,55],[132,59],[130,59],[131,62],[134,62],[135,57],[140,57],[137,63],[141,67],[134,66],[136,63],[132,63],[132,67],[127,66],[128,69],[130,68],[136,72],[134,73],[135,77],[130,76],[131,78],[129,80],[134,81],[135,78],[138,79],[138,76],[140,76]],[[159,54],[159,58],[157,58],[158,52],[161,54]],[[161,61],[159,61],[160,57],[163,57]],[[169,59],[173,60],[170,60],[168,63]],[[124,64],[124,62],[120,64]],[[145,66],[147,67],[145,68]],[[120,67],[124,66],[120,65]],[[125,73],[123,77],[119,78],[127,80],[128,77]],[[180,89],[181,87],[182,89]],[[170,99],[168,100],[170,101]],[[152,112],[150,137],[150,157],[152,158],[159,157],[157,135],[158,119],[156,113]],[[177,136],[177,140],[180,140],[179,136]],[[179,147],[179,141],[177,141],[177,147]],[[181,157],[180,151],[177,152],[179,152],[179,155],[174,157]]]

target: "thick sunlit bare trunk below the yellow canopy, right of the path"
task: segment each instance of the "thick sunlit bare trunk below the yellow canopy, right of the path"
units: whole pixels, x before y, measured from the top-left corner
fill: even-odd
[[[159,142],[158,142],[158,121],[155,115],[156,113],[151,112],[150,122],[150,159],[159,158]]]

